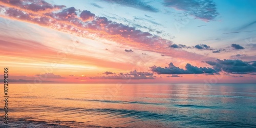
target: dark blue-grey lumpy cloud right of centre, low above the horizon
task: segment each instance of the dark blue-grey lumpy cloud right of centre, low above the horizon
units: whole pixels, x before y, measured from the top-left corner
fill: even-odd
[[[156,72],[157,74],[209,74],[209,73],[217,73],[218,71],[212,68],[206,67],[195,67],[187,63],[185,66],[186,70],[180,69],[179,67],[174,66],[172,62],[169,63],[169,67],[150,67],[151,71]]]

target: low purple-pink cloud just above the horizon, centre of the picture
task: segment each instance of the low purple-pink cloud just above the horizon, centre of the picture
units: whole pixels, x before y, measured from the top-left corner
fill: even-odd
[[[108,72],[108,74],[111,74],[111,73],[112,72]],[[118,75],[97,76],[97,77],[89,77],[89,78],[90,79],[155,79],[153,75],[154,74],[151,72],[137,72],[136,70],[134,70],[128,73],[119,73]]]

